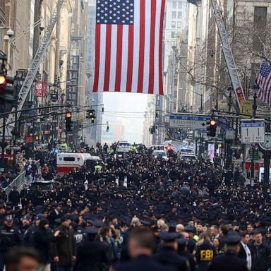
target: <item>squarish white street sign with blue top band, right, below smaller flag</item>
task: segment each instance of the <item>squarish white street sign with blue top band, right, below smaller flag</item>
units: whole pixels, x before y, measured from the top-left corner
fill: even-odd
[[[243,122],[241,140],[242,144],[265,142],[265,124],[263,122]]]

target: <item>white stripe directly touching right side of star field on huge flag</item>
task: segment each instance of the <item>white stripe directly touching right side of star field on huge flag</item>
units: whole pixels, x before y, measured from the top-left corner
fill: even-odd
[[[133,23],[133,77],[132,92],[138,92],[139,42],[140,42],[140,1],[134,4]],[[128,38],[128,37],[127,37]]]

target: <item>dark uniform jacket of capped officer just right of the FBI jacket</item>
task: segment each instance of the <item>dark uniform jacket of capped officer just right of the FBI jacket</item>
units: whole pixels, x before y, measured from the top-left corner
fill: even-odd
[[[210,264],[208,271],[248,271],[246,260],[239,258],[234,251],[217,255]]]

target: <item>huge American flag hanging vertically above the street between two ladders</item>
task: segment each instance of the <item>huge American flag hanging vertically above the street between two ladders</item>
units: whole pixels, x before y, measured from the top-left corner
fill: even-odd
[[[97,0],[93,92],[163,95],[165,0]]]

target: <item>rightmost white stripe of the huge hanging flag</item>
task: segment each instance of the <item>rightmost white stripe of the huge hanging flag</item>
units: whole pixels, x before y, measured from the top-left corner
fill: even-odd
[[[155,18],[155,66],[154,66],[154,94],[159,94],[159,35],[160,35],[160,16],[162,0],[156,1],[156,18]]]

